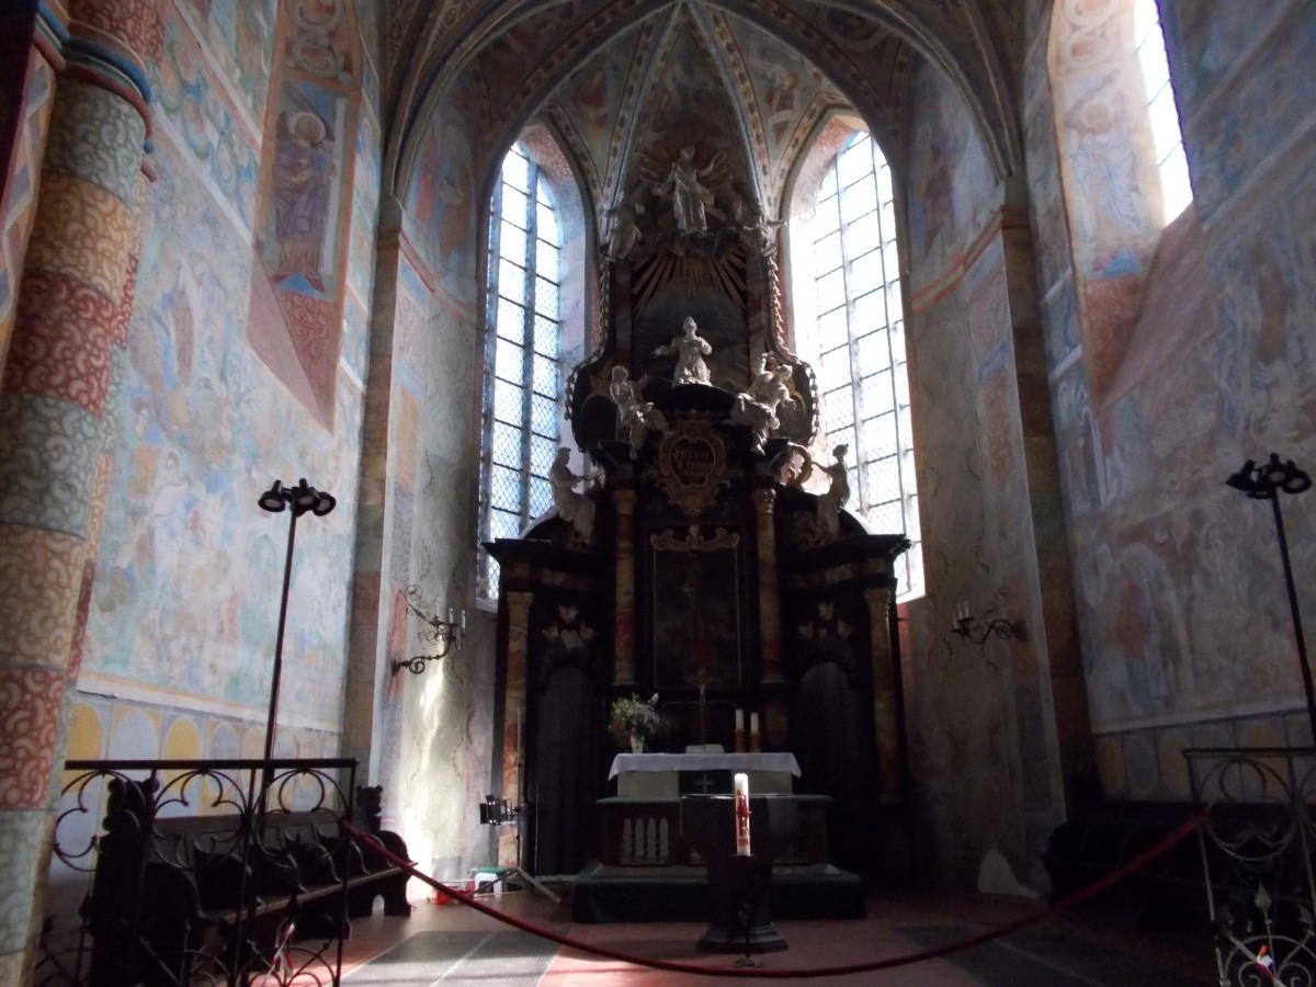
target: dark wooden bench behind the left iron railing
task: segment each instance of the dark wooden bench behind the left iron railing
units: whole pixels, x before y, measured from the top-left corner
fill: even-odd
[[[340,811],[232,811],[154,815],[154,782],[109,782],[109,812],[86,917],[97,984],[187,983],[265,973],[299,945],[297,966],[337,969],[330,945],[350,920],[411,915],[401,837],[379,829],[379,790],[358,790],[365,811],[349,832]],[[222,803],[217,809],[228,808]],[[318,945],[315,945],[318,942]]]

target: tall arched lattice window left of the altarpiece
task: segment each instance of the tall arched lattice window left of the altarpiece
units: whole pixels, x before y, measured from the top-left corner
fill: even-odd
[[[503,159],[490,209],[480,455],[480,544],[515,538],[553,505],[561,434],[562,234],[549,183],[521,145]],[[478,596],[497,562],[479,550]]]

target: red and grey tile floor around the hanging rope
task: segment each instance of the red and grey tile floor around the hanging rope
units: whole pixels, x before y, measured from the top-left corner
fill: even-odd
[[[741,957],[700,953],[695,949],[696,941],[704,933],[704,923],[579,924],[571,921],[567,904],[555,905],[546,898],[525,891],[482,896],[479,900],[500,913],[588,945],[637,958],[691,963],[716,975],[653,970],[588,955],[571,948],[558,950],[557,955],[547,961],[542,958],[544,948],[533,941],[516,936],[500,936],[494,940],[496,933],[507,932],[507,926],[494,917],[461,904],[434,904],[430,900],[413,899],[416,911],[411,919],[386,917],[376,904],[374,916],[353,924],[343,967],[347,987],[351,987],[354,980],[358,984],[441,983],[454,987],[462,983],[479,983],[482,987],[495,984],[678,987],[742,979],[736,975],[744,971],[736,966]],[[863,965],[959,942],[1034,909],[1034,903],[950,891],[880,891],[869,896],[869,915],[863,920],[775,923],[790,948],[784,951],[759,954],[755,959],[762,963],[761,973],[767,974]],[[390,963],[395,961],[388,955],[388,950],[404,944],[409,937],[417,937],[418,933],[425,933],[422,938],[434,942],[445,938],[436,933],[463,933],[449,938],[450,946],[459,946],[458,955],[470,959],[467,969],[463,970],[466,959],[436,963],[432,970],[420,971],[412,962],[404,974],[400,959],[407,953],[397,950],[395,957],[399,958],[399,965],[391,970]],[[517,967],[519,973],[513,973],[513,967],[508,966],[478,966],[475,957],[479,953],[479,944],[501,944],[499,949],[507,958],[509,941],[520,942],[526,954],[541,954],[538,965],[532,963],[534,973],[525,973],[529,967],[524,965]],[[408,945],[413,946],[409,955],[415,957],[416,948],[422,942],[417,938]],[[516,951],[515,946],[512,951]],[[446,955],[453,955],[453,950],[449,949]],[[546,973],[538,973],[545,963]],[[499,973],[500,970],[508,973]],[[1048,917],[1026,929],[953,957],[876,973],[837,976],[795,975],[790,979],[792,983],[825,983],[838,987],[870,983],[891,987],[915,984],[920,987],[978,984],[1003,987],[1200,984],[1205,987],[1216,983],[1209,942],[1183,936],[1138,932],[1121,926],[1108,916],[1082,911]]]

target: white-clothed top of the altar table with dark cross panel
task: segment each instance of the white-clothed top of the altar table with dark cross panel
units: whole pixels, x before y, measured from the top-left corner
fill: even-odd
[[[732,775],[749,775],[754,795],[790,795],[800,765],[787,753],[701,751],[691,754],[617,754],[608,780],[621,799],[675,799],[680,795],[728,795]]]

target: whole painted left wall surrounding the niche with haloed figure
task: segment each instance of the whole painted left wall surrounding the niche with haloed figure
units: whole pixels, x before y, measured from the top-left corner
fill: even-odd
[[[332,9],[303,4],[284,13],[305,26]],[[95,561],[78,683],[103,724],[99,753],[154,757],[196,747],[193,753],[213,757],[259,754],[288,529],[286,516],[265,515],[254,499],[275,476],[296,479],[287,474],[290,463],[332,491],[340,509],[299,530],[275,751],[333,754],[342,733],[342,587],[349,584],[353,553],[353,512],[343,505],[355,500],[363,400],[359,386],[329,388],[325,417],[336,430],[326,432],[317,421],[324,405],[308,415],[245,340],[253,271],[268,283],[265,265],[279,257],[272,247],[253,250],[266,246],[259,237],[274,229],[274,207],[266,201],[257,220],[258,143],[247,129],[249,109],[241,97],[230,99],[246,88],[234,84],[229,63],[209,46],[221,43],[211,30],[220,22],[215,18],[232,26],[233,17],[254,17],[250,26],[262,22],[261,16],[251,4],[190,0],[183,16],[166,18],[166,57],[153,67],[163,108],[151,155],[158,180],[146,187],[137,304],[107,413],[113,494]],[[272,30],[272,20],[263,22]],[[350,18],[337,24],[346,30]],[[345,36],[333,38],[333,45],[346,43]],[[316,112],[321,122],[350,136],[330,153],[378,161],[378,125],[358,134],[351,113],[342,109],[355,99],[350,79],[340,79],[343,66],[317,55],[309,42],[303,55],[301,68],[333,70],[320,87],[332,96],[308,82],[308,71],[280,88],[271,113],[287,120],[290,107]],[[257,107],[261,93],[253,92]],[[272,133],[265,143],[270,180],[280,154],[287,162],[287,154],[304,150],[279,147]],[[337,222],[351,215],[363,224],[355,236],[365,270],[326,326],[334,340],[329,366],[336,372],[337,338],[345,332],[349,367],[359,378],[372,276],[372,245],[363,240],[374,238],[378,166],[354,175],[350,161],[341,162],[333,163],[342,205]],[[336,230],[338,261],[328,271],[342,297],[347,238],[345,226]],[[325,293],[329,290],[326,282]],[[345,380],[351,383],[351,371]],[[271,421],[280,428],[271,429]],[[146,732],[128,730],[141,721],[143,703],[153,712],[166,711],[164,720]],[[120,722],[122,730],[114,726]]]

